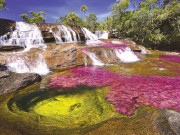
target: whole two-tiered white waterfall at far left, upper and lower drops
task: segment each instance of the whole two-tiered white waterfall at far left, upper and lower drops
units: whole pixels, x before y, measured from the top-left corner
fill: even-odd
[[[10,71],[38,73],[41,75],[49,72],[43,55],[39,53],[28,54],[31,48],[46,48],[41,31],[36,24],[16,22],[14,31],[0,37],[0,45],[16,45],[25,48],[22,52],[4,53],[6,64]]]

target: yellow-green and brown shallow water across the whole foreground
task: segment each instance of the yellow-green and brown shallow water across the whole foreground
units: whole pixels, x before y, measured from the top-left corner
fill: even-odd
[[[41,90],[39,85],[0,97],[1,134],[159,133],[154,120],[160,109],[141,106],[132,116],[121,115],[106,100],[107,87],[81,86],[58,92]]]

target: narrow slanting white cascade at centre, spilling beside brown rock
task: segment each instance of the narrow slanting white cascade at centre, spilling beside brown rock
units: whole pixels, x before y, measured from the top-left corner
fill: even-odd
[[[89,56],[89,58],[92,60],[92,64],[95,66],[104,66],[104,63],[101,62],[101,60],[96,57],[96,55],[92,52],[89,52],[87,49],[82,49],[82,51]]]

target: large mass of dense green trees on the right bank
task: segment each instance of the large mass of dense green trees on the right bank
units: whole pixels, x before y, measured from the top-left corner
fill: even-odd
[[[180,42],[180,2],[178,0],[143,0],[127,11],[129,0],[112,6],[112,20],[105,25],[120,38],[131,38],[145,46]]]

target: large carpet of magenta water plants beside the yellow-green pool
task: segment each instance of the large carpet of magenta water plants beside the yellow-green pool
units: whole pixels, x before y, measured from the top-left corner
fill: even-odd
[[[69,70],[72,75],[53,75],[49,86],[108,86],[107,99],[117,111],[127,115],[131,115],[140,105],[180,110],[180,76],[127,76],[94,67]]]

